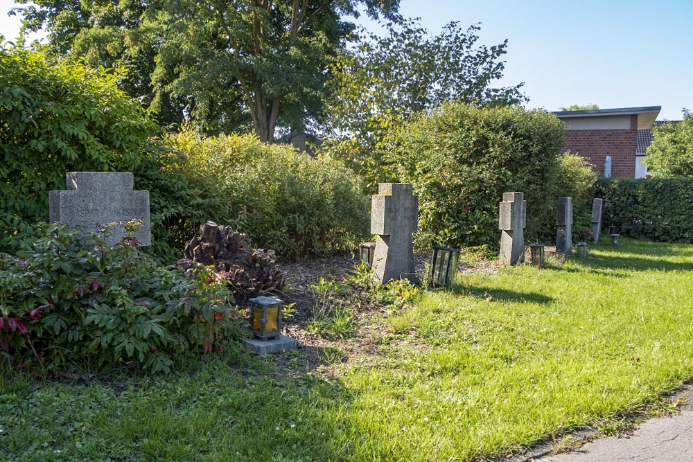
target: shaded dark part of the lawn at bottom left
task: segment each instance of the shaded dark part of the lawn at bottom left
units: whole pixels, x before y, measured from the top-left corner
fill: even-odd
[[[349,460],[343,409],[353,391],[283,367],[300,353],[279,356],[240,369],[219,361],[194,364],[192,373],[121,376],[128,383],[118,391],[100,381],[4,380],[11,377],[0,371],[0,395],[13,403],[0,403],[0,460]]]

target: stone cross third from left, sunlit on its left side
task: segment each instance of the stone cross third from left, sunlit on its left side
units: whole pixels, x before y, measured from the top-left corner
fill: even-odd
[[[525,261],[525,226],[527,225],[527,201],[523,193],[503,193],[498,215],[500,259],[515,265]]]

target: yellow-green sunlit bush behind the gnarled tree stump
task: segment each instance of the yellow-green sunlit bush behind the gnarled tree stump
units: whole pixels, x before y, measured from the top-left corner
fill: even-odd
[[[249,135],[183,132],[170,141],[186,157],[180,168],[195,195],[208,198],[207,220],[232,224],[255,247],[299,258],[352,249],[365,237],[368,199],[333,157]]]

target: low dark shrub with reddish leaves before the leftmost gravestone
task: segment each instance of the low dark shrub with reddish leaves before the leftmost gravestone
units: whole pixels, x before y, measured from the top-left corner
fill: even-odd
[[[0,355],[49,368],[91,358],[168,372],[172,357],[222,348],[241,332],[224,283],[199,267],[163,269],[132,238],[43,225],[44,237],[0,260]],[[132,225],[130,225],[132,231]]]

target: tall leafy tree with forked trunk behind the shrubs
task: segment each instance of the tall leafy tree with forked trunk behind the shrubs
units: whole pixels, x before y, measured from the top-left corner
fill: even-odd
[[[17,0],[28,3],[29,0]],[[353,24],[342,17],[397,19],[399,0],[35,0],[28,30],[45,27],[57,54],[122,66],[123,87],[164,123],[204,132],[277,125],[304,129],[322,111],[328,59]]]

